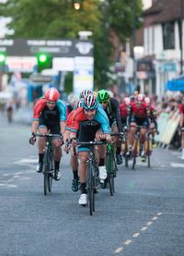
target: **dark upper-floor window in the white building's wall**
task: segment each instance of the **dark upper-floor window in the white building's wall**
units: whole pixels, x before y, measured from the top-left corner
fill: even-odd
[[[175,49],[175,27],[174,22],[162,25],[164,50]]]

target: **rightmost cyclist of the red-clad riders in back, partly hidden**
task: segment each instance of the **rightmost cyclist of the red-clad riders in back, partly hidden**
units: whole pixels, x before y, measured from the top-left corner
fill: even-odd
[[[157,125],[157,120],[156,120],[157,119],[156,110],[155,110],[155,106],[153,104],[151,104],[149,97],[145,97],[144,102],[145,102],[145,104],[147,104],[149,106],[149,109],[150,109],[150,130],[151,130],[151,134],[152,134],[152,148],[155,148],[156,147],[155,132],[158,132],[157,131],[158,125]]]

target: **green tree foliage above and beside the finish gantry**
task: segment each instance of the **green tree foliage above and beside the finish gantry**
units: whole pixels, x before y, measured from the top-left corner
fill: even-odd
[[[132,37],[132,2],[130,0],[81,0],[75,10],[73,0],[7,0],[0,4],[0,16],[11,17],[8,29],[13,38],[77,38],[79,30],[91,30],[95,45],[95,85],[107,81],[109,55],[113,50],[109,32],[125,42]],[[135,0],[135,25],[140,25],[142,0]]]

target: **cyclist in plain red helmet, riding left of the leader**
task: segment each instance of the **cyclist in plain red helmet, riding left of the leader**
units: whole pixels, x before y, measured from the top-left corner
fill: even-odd
[[[53,134],[63,134],[66,120],[66,106],[62,100],[59,100],[59,91],[55,88],[50,88],[45,91],[44,97],[34,106],[34,114],[32,121],[32,137],[31,144],[36,141],[36,132],[39,129],[40,134],[46,134],[49,131]],[[45,140],[43,137],[39,138],[39,164],[37,165],[37,172],[41,173],[43,168],[43,149]],[[61,140],[54,139],[54,168],[56,180],[60,179],[60,161],[62,157]]]

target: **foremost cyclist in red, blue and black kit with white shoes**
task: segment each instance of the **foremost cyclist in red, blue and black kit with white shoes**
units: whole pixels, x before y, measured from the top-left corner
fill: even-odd
[[[96,98],[92,93],[86,95],[83,100],[82,107],[75,110],[70,132],[71,142],[76,140],[77,133],[79,134],[79,141],[93,141],[95,139],[111,141],[111,137],[109,135],[110,128],[108,116],[105,111],[98,106],[98,98]],[[78,147],[78,155],[80,159],[78,169],[81,184],[81,195],[78,203],[81,205],[86,204],[86,160],[88,152],[88,147],[84,147],[82,145]],[[103,158],[99,159],[98,170],[99,178],[102,180],[105,179],[107,177],[105,152]]]

